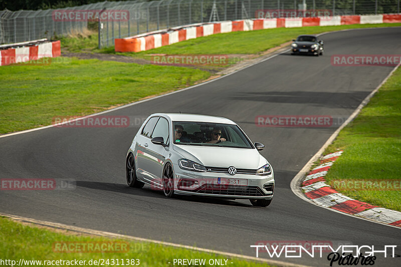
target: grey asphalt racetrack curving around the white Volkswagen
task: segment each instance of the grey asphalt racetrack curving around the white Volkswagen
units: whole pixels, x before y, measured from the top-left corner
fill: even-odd
[[[276,188],[268,208],[248,200],[166,199],[150,187],[125,183],[125,156],[140,125],[51,127],[0,138],[0,178],[76,181],[71,190],[0,191],[0,212],[143,238],[255,256],[258,241],[321,241],[401,245],[401,229],[338,214],[295,196],[290,182],[336,127],[257,127],[258,115],[331,115],[344,120],[393,69],[332,66],[332,55],[401,54],[401,28],[321,36],[322,57],[289,52],[189,90],[109,112],[146,117],[156,112],[217,115],[236,121],[272,164]],[[68,99],[66,99],[68,101]],[[338,125],[339,126],[339,125]],[[260,257],[268,257],[259,253]],[[277,258],[274,258],[277,259]],[[280,260],[328,266],[323,258]],[[377,266],[401,257],[378,256]]]

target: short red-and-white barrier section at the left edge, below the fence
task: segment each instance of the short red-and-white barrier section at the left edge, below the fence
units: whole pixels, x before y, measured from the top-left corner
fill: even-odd
[[[47,41],[46,39],[3,45],[0,49],[2,47],[4,49],[0,50],[0,66],[61,55],[60,41]]]

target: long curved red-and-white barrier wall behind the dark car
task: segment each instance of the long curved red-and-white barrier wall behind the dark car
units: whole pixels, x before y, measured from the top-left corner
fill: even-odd
[[[401,14],[332,16],[313,18],[277,18],[224,21],[210,24],[193,24],[145,33],[123,39],[115,39],[116,52],[140,52],[177,42],[218,33],[253,31],[272,28],[295,28],[308,26],[337,26],[349,24],[401,23]]]

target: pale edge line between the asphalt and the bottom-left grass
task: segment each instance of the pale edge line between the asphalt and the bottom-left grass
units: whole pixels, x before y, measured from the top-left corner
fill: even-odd
[[[195,246],[181,245],[181,244],[163,242],[163,241],[146,239],[146,238],[135,237],[135,236],[130,236],[130,235],[124,235],[124,234],[116,234],[116,233],[93,230],[93,229],[88,229],[88,228],[82,228],[82,227],[77,227],[77,226],[72,226],[72,225],[67,225],[67,224],[62,224],[62,223],[36,220],[36,219],[32,219],[32,218],[21,217],[21,216],[17,216],[17,215],[10,215],[10,214],[6,214],[6,213],[0,213],[0,216],[9,217],[9,218],[14,219],[16,221],[30,222],[30,223],[44,225],[44,226],[48,226],[48,227],[52,227],[52,228],[65,229],[65,230],[69,230],[69,231],[87,233],[87,234],[91,234],[91,235],[99,235],[99,236],[105,236],[105,237],[111,237],[111,238],[120,238],[120,239],[139,241],[139,242],[149,242],[149,243],[153,243],[153,244],[166,245],[166,246],[172,246],[172,247],[177,247],[177,248],[185,248],[185,249],[196,250],[196,251],[200,251],[200,252],[219,254],[219,255],[223,255],[223,256],[227,256],[227,257],[234,257],[234,258],[245,259],[245,260],[259,261],[259,262],[264,262],[264,263],[268,263],[268,264],[272,264],[272,265],[278,265],[278,266],[307,267],[307,265],[294,264],[294,263],[284,262],[284,261],[280,261],[280,260],[266,259],[266,258],[253,257],[253,256],[246,256],[246,255],[230,253],[230,252],[224,252],[224,251],[219,251],[219,250],[214,250],[214,249],[207,249],[207,248],[200,248],[200,247],[195,247]],[[250,244],[250,245],[253,245],[253,244]],[[256,254],[256,251],[255,251],[255,254]]]

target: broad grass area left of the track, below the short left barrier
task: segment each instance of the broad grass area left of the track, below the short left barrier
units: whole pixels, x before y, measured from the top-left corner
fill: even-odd
[[[183,67],[57,59],[42,66],[2,66],[0,133],[50,125],[54,116],[92,114],[210,76]]]

